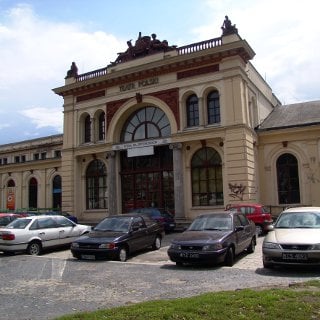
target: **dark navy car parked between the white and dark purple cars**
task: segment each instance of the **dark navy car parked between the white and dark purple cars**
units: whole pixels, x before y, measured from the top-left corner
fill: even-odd
[[[117,259],[126,261],[133,252],[152,247],[158,250],[163,226],[137,214],[110,216],[92,232],[73,241],[71,252],[77,259]]]

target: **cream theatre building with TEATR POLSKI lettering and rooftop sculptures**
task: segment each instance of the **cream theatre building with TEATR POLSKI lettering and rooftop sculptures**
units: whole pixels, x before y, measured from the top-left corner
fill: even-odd
[[[0,146],[0,207],[9,191],[16,208],[29,207],[32,177],[37,207],[54,207],[57,175],[62,210],[88,222],[151,205],[177,219],[234,202],[320,205],[320,103],[298,105],[281,123],[289,106],[254,55],[226,20],[211,40],[176,47],[140,33],[106,68],[78,74],[73,63],[54,89],[64,100],[63,136]],[[314,110],[309,123],[303,105]],[[41,150],[52,157],[33,160]],[[15,163],[22,154],[30,161]]]

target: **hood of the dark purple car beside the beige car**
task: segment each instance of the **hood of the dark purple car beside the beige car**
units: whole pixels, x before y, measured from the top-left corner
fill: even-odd
[[[231,231],[185,231],[178,237],[174,238],[172,242],[175,243],[207,243],[217,242],[226,237]]]

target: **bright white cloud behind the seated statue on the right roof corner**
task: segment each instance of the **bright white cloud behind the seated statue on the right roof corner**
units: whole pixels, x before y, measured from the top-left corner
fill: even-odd
[[[199,39],[212,38],[221,27],[221,12],[256,52],[252,63],[283,103],[320,99],[320,2],[291,0],[207,0],[211,23],[194,30]],[[211,34],[211,36],[210,36]]]

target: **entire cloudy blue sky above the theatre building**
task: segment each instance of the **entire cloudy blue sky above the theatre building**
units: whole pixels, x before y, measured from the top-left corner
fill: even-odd
[[[80,73],[103,68],[139,32],[177,46],[219,37],[225,15],[283,104],[319,100],[319,9],[318,0],[0,0],[0,144],[62,133],[52,89],[72,61]]]

